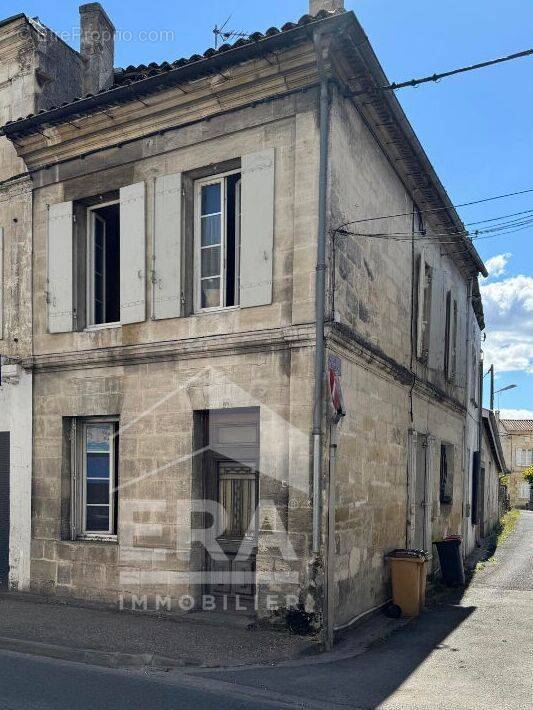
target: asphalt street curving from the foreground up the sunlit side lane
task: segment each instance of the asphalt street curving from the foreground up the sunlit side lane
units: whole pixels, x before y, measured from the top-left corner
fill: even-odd
[[[533,698],[533,512],[464,597],[366,652],[272,667],[118,671],[0,652],[0,710],[525,710]]]

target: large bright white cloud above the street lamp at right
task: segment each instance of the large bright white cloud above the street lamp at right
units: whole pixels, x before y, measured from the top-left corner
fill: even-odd
[[[533,277],[481,284],[487,340],[485,362],[499,372],[533,374]]]

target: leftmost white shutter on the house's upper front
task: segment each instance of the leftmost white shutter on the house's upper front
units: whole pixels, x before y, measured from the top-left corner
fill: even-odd
[[[50,205],[48,212],[48,331],[74,327],[74,211],[72,202]]]

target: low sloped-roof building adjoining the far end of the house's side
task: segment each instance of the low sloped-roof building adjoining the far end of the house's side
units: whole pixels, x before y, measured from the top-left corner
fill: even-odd
[[[483,409],[483,449],[479,485],[474,487],[474,523],[479,538],[487,537],[500,519],[500,479],[508,473],[498,430],[498,420],[490,409]]]

